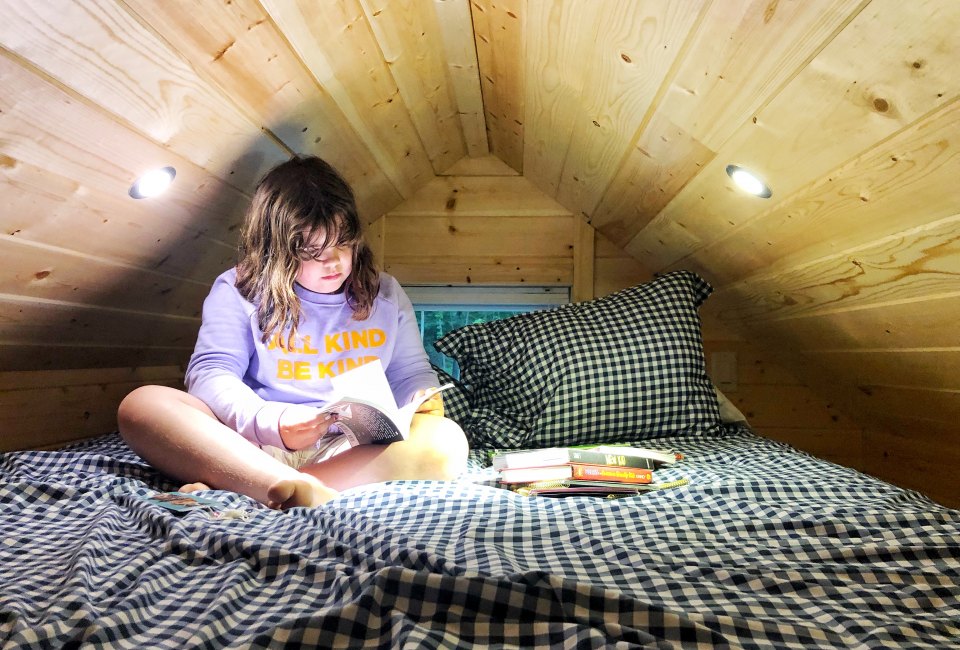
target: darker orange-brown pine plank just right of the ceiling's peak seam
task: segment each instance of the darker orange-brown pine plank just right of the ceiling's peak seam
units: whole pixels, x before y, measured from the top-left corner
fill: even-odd
[[[522,0],[470,4],[490,151],[518,172],[523,172],[524,6]]]

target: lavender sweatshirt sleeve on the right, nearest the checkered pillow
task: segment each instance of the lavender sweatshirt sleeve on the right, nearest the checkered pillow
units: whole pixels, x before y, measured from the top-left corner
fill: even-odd
[[[403,406],[413,399],[419,389],[438,386],[440,382],[423,348],[410,298],[393,277],[383,276],[382,281],[391,283],[390,290],[394,293],[398,308],[397,344],[386,369],[387,380],[397,404]]]

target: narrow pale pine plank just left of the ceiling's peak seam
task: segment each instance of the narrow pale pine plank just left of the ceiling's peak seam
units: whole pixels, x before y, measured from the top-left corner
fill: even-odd
[[[457,100],[467,155],[486,156],[490,147],[470,4],[468,0],[435,0],[433,8],[440,24],[447,71]]]

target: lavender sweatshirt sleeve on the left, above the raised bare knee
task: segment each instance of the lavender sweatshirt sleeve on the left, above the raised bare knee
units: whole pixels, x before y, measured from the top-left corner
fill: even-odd
[[[256,353],[254,308],[233,286],[233,273],[217,278],[203,302],[197,345],[187,366],[187,392],[247,440],[284,448],[280,438],[283,402],[257,395],[243,377]]]

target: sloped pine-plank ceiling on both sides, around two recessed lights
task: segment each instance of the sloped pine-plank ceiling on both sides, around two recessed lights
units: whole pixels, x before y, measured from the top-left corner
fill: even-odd
[[[492,154],[651,271],[702,273],[711,318],[956,432],[956,0],[0,8],[5,368],[188,354],[291,153],[340,168],[368,222]],[[169,195],[128,198],[163,165]]]

